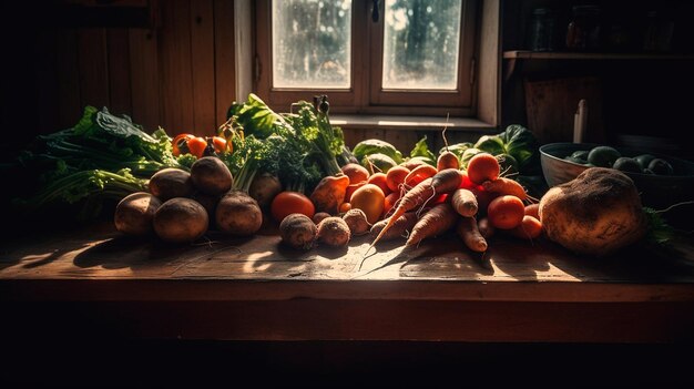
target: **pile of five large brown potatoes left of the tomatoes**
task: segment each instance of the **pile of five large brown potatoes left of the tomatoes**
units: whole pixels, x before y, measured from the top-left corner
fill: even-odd
[[[258,203],[232,190],[228,167],[215,156],[202,157],[191,172],[164,168],[149,183],[149,192],[133,193],[116,206],[118,231],[134,236],[152,233],[171,243],[201,238],[211,226],[236,236],[253,235],[263,225]]]

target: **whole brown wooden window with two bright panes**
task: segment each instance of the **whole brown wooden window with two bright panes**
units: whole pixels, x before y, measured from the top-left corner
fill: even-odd
[[[330,112],[474,113],[476,1],[255,4],[254,90],[275,109],[327,94]]]

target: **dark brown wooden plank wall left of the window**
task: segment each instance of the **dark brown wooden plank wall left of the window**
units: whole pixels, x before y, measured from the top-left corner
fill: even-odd
[[[32,89],[43,110],[24,134],[69,127],[85,105],[129,114],[147,131],[213,134],[236,100],[233,12],[232,1],[170,0],[159,2],[152,29],[37,30],[24,84],[13,86]]]

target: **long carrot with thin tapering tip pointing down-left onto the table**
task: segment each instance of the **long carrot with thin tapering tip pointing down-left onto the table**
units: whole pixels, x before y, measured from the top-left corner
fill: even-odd
[[[460,185],[460,174],[457,168],[446,168],[437,173],[433,177],[427,178],[419,183],[417,186],[407,192],[398,203],[395,213],[388,218],[388,223],[384,229],[376,236],[371,245],[368,247],[368,253],[374,245],[381,238],[386,232],[392,227],[395,221],[402,216],[406,212],[412,211],[416,207],[425,204],[429,198],[441,193],[449,193],[458,188]],[[365,257],[366,257],[365,253]]]

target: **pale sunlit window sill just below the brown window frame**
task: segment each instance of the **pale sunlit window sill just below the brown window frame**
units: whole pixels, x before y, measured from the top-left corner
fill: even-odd
[[[331,114],[330,124],[348,129],[402,130],[402,131],[471,131],[497,130],[494,125],[471,117],[435,117],[405,115]]]

